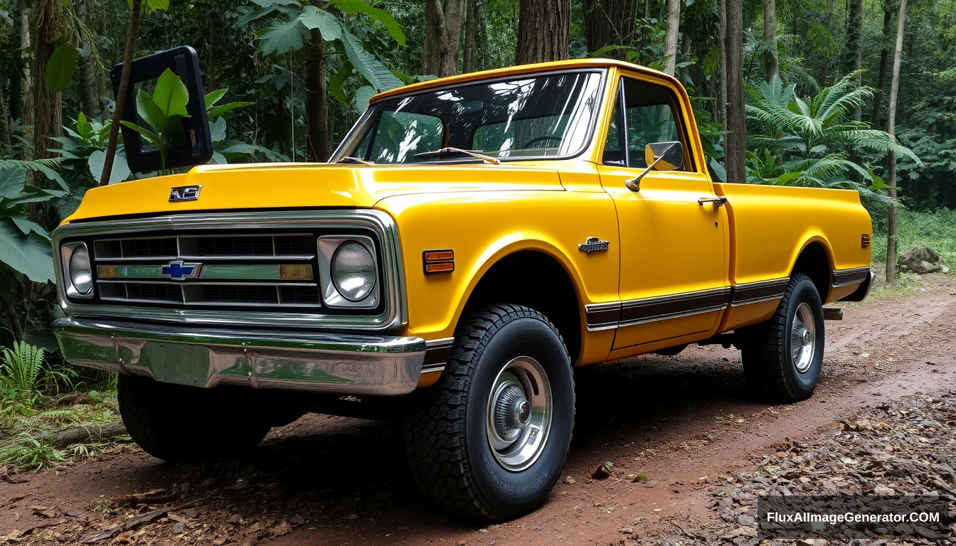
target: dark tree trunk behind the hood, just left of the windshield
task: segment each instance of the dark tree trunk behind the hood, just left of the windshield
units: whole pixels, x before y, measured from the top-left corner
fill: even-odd
[[[329,90],[325,79],[325,41],[318,29],[312,31],[308,47],[305,115],[309,126],[306,150],[309,161],[325,162],[332,156],[332,131],[329,129]]]

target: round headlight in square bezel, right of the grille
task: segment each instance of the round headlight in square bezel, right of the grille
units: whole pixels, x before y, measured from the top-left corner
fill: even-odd
[[[379,305],[379,264],[371,237],[319,237],[318,269],[328,307],[371,309]]]

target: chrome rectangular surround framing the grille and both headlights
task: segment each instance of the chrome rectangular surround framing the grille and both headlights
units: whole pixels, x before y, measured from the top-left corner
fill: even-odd
[[[62,264],[56,264],[56,285],[60,306],[68,316],[127,317],[193,325],[293,328],[336,328],[341,330],[386,331],[407,323],[402,247],[398,227],[390,215],[380,210],[303,210],[224,212],[216,214],[172,214],[141,219],[98,220],[66,224],[54,230],[54,248],[65,239],[112,233],[136,234],[164,229],[188,234],[196,229],[365,229],[375,232],[380,246],[380,298],[383,309],[377,315],[334,315],[322,309],[316,313],[279,313],[203,309],[165,309],[151,307],[96,305],[71,301],[62,291]],[[58,257],[60,252],[54,252]],[[203,260],[208,258],[203,257]],[[286,259],[286,258],[283,258]]]

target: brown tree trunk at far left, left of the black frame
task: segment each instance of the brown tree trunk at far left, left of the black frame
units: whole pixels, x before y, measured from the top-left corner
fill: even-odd
[[[63,135],[63,98],[47,86],[47,63],[54,55],[63,29],[63,2],[42,0],[33,4],[33,159],[53,157],[50,139]]]

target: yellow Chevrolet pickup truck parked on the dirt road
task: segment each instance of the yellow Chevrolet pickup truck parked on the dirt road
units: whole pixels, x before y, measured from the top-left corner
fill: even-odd
[[[673,77],[570,60],[382,93],[328,164],[90,190],[54,330],[160,459],[401,415],[422,491],[503,520],[560,475],[576,366],[732,344],[755,396],[811,396],[870,237],[854,191],[714,183]]]

